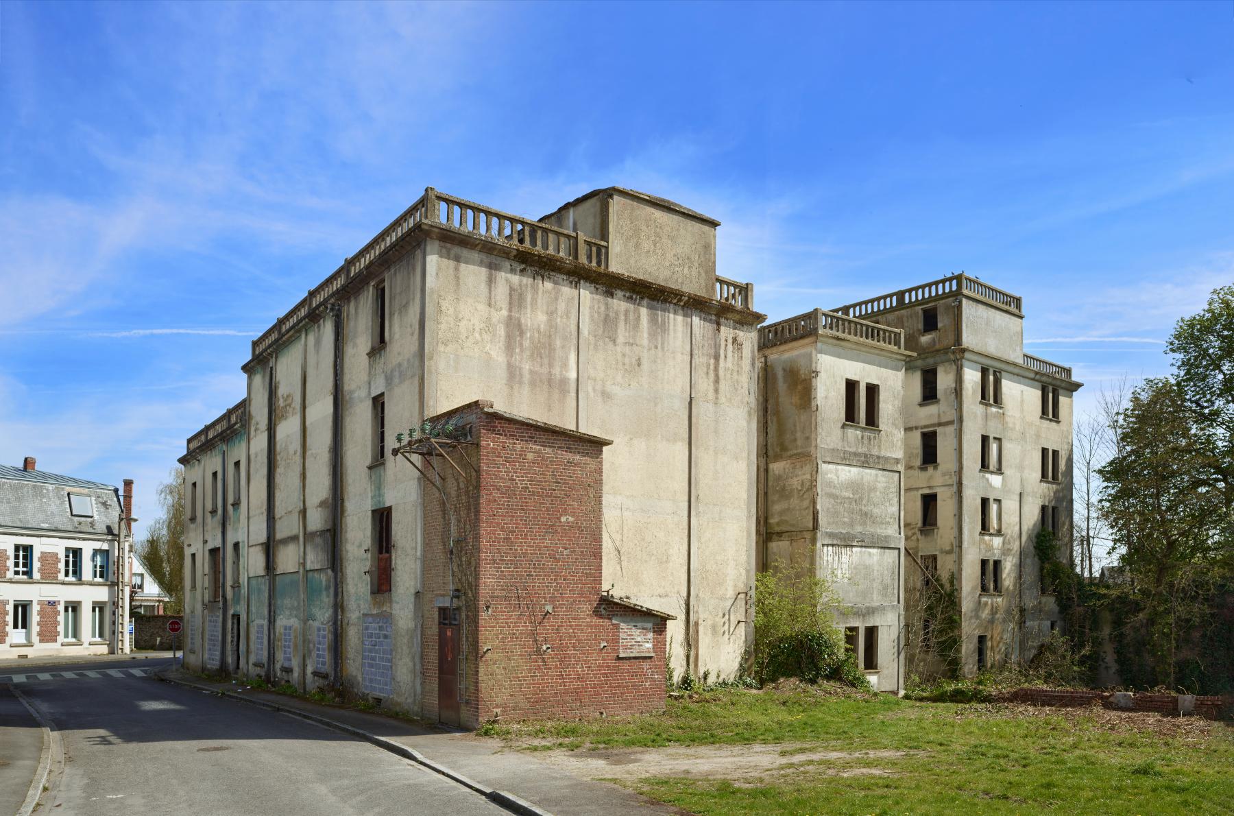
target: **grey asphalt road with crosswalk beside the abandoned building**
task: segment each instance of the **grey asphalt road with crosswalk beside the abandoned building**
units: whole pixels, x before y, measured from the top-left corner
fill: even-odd
[[[130,672],[165,663],[93,660],[41,672],[41,667],[23,667],[25,681],[11,688],[54,723],[64,746],[63,765],[58,769],[53,763],[49,790],[37,812],[506,812],[366,742]],[[0,690],[6,681],[0,674]],[[23,720],[25,726],[20,725]],[[25,707],[0,691],[0,759],[11,763],[0,765],[0,812],[6,812],[19,788],[17,805],[25,797],[41,749],[41,731]],[[19,776],[23,781],[14,781]]]

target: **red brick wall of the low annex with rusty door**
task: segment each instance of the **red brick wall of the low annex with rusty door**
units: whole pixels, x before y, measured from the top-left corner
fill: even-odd
[[[450,472],[455,537],[465,536],[454,564],[464,600],[464,725],[661,709],[664,618],[602,595],[602,443],[485,410],[471,423],[479,478],[439,468]],[[476,527],[460,530],[465,525]],[[433,600],[449,589],[442,580],[447,531],[441,498],[426,500],[429,716],[437,706]],[[638,657],[619,657],[622,622],[636,630],[624,632],[624,644]]]

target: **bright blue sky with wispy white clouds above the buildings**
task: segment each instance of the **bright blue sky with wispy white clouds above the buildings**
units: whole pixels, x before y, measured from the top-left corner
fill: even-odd
[[[723,222],[772,320],[966,270],[1102,384],[1234,280],[1234,4],[0,4],[0,462],[153,489],[427,185]]]

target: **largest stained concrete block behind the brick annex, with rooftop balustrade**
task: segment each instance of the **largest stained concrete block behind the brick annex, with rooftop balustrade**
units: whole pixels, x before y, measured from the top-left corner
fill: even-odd
[[[186,664],[423,711],[426,485],[390,452],[399,430],[485,399],[613,441],[603,588],[675,616],[679,670],[735,674],[763,315],[714,274],[714,228],[618,188],[544,221],[427,190],[254,342],[246,400],[189,439],[199,501],[236,462],[242,489],[186,520]],[[237,546],[215,601],[211,549]],[[380,694],[365,665],[389,669]]]

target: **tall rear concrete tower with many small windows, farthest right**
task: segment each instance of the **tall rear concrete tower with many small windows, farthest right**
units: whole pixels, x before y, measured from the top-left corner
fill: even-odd
[[[928,580],[923,567],[955,578],[964,674],[1029,659],[1059,620],[1033,542],[1051,526],[1070,554],[1071,405],[1081,383],[1024,353],[1021,298],[969,275],[835,311],[902,331],[914,353],[903,386],[908,594]],[[919,643],[921,632],[908,639]]]

